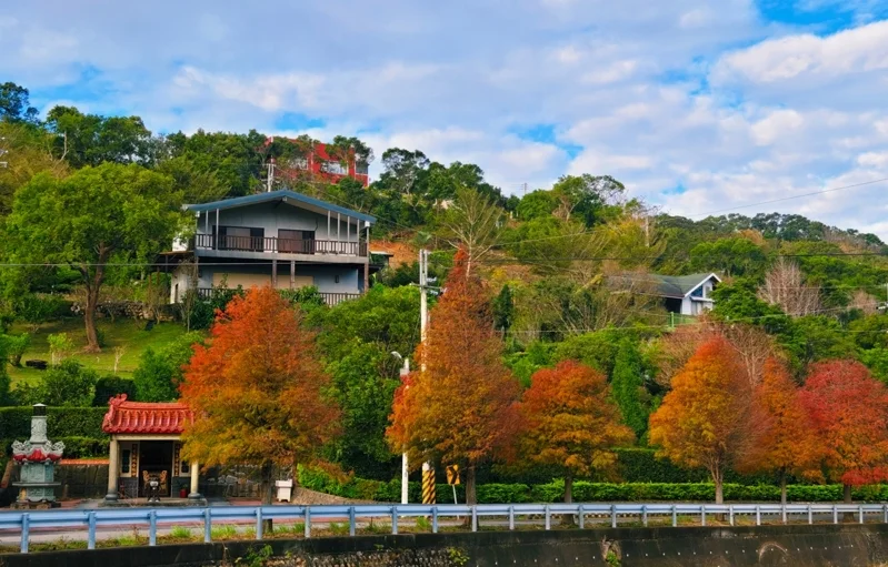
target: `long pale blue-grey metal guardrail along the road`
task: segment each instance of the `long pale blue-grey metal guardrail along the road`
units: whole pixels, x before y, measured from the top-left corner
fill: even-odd
[[[157,545],[159,524],[202,523],[203,541],[212,540],[213,523],[256,522],[256,539],[262,539],[262,522],[267,519],[301,520],[305,523],[305,537],[311,537],[312,523],[348,520],[349,535],[355,536],[358,523],[377,518],[391,522],[391,533],[398,534],[401,518],[431,518],[431,531],[438,533],[442,518],[471,518],[471,530],[478,530],[479,518],[508,518],[509,529],[515,529],[516,517],[536,516],[551,529],[552,516],[573,515],[580,529],[587,518],[608,522],[610,527],[619,526],[619,518],[638,517],[647,526],[651,517],[665,517],[678,526],[679,516],[699,518],[706,526],[707,517],[727,517],[734,526],[741,516],[755,517],[757,526],[762,517],[777,516],[786,524],[791,516],[804,517],[808,524],[822,516],[829,523],[838,524],[839,515],[852,514],[864,524],[867,517],[876,516],[879,523],[888,524],[888,504],[483,504],[477,506],[443,504],[426,505],[372,505],[372,506],[219,506],[182,508],[101,508],[97,510],[44,510],[0,513],[0,535],[12,530],[21,535],[21,553],[27,554],[31,529],[39,528],[86,528],[87,547],[96,548],[96,531],[99,526],[148,526],[148,545]]]

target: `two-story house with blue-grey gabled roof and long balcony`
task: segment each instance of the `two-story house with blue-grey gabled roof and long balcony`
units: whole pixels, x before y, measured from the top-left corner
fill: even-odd
[[[332,305],[368,287],[370,215],[290,190],[184,209],[194,236],[164,254],[171,303],[194,287],[208,297],[219,287],[271,285],[315,286]]]

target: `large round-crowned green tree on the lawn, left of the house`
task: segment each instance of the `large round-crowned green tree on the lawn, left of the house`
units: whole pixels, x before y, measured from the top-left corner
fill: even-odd
[[[108,163],[57,180],[37,175],[16,194],[7,220],[13,255],[24,263],[61,263],[86,287],[87,350],[100,350],[96,307],[109,264],[148,262],[181,225],[169,178],[139,165]]]

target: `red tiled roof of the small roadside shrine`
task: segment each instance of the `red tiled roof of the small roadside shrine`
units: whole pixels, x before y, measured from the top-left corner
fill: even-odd
[[[108,405],[102,419],[104,433],[179,435],[194,421],[193,412],[179,403],[127,402],[127,394],[120,394]]]

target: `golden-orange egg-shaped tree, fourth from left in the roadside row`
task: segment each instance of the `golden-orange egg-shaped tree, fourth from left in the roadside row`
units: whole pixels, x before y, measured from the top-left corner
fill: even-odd
[[[724,502],[725,470],[738,453],[751,388],[736,351],[722,337],[704,343],[672,378],[672,389],[650,416],[659,455],[705,467]]]

